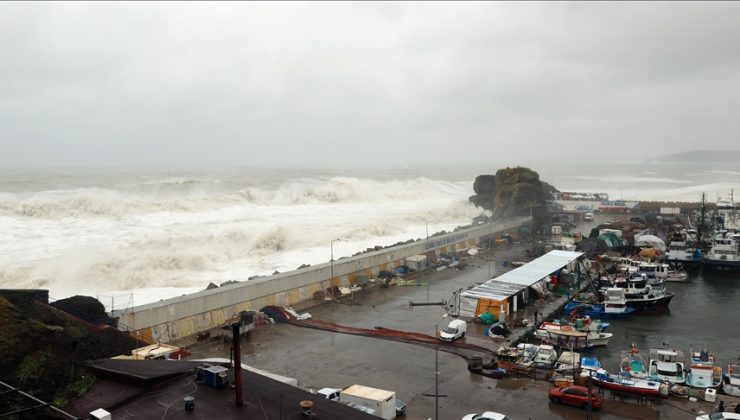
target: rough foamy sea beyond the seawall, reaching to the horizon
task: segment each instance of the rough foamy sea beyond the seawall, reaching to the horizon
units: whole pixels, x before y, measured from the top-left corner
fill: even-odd
[[[469,224],[483,214],[468,200],[475,177],[517,165],[561,191],[612,199],[714,201],[740,186],[729,164],[596,159],[0,169],[0,288],[94,296],[121,309],[324,263]],[[683,304],[677,297],[674,307]]]

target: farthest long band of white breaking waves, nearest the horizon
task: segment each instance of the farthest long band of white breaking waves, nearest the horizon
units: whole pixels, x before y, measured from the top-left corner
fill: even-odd
[[[288,180],[276,189],[253,186],[225,191],[218,181],[201,182],[177,178],[124,185],[119,189],[74,188],[33,193],[0,193],[0,216],[40,219],[124,217],[154,212],[207,211],[243,204],[286,206],[372,203],[419,197],[446,197],[451,193],[460,193],[465,187],[459,183],[427,178],[382,182],[333,177]]]

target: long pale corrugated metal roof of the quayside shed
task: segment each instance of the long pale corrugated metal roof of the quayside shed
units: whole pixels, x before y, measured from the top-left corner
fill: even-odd
[[[565,267],[582,252],[550,251],[523,266],[462,293],[462,296],[502,301]]]

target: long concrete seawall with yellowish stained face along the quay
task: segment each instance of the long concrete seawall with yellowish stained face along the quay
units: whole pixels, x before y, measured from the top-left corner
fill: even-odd
[[[259,310],[267,305],[290,306],[311,300],[315,292],[326,290],[330,285],[349,286],[355,283],[358,275],[375,276],[381,270],[392,270],[412,255],[426,251],[444,254],[475,246],[482,236],[515,229],[528,221],[529,217],[509,219],[342,258],[334,261],[334,278],[331,278],[331,263],[324,263],[114,311],[113,316],[119,317],[120,329],[136,331],[145,341],[168,342],[217,328],[244,310]]]

